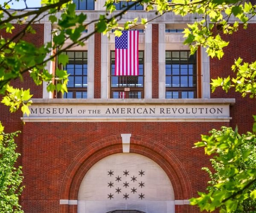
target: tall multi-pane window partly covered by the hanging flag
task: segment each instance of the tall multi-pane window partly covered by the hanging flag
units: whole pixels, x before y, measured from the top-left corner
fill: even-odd
[[[111,98],[144,98],[144,52],[139,51],[139,75],[116,76],[115,52],[111,51]]]

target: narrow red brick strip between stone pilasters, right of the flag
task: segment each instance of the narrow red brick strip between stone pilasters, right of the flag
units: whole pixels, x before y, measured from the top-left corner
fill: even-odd
[[[158,24],[152,24],[152,98],[158,98]]]

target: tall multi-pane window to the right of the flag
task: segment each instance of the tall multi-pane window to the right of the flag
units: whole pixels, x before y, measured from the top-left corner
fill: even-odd
[[[197,98],[196,53],[166,51],[166,98]]]

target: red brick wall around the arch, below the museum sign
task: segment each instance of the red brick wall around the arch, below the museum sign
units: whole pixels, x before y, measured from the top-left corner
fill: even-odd
[[[28,122],[23,127],[22,162],[26,185],[22,193],[23,209],[27,213],[49,212],[49,209],[58,212],[60,206],[65,209],[65,205],[56,207],[57,202],[59,199],[77,197],[81,177],[86,171],[100,158],[122,151],[121,133],[132,134],[131,152],[153,159],[174,180],[172,184],[175,188],[175,199],[197,196],[197,191],[206,187],[208,176],[200,168],[209,166],[209,158],[204,155],[204,150],[192,150],[192,146],[200,139],[200,134],[206,134],[212,128],[223,125],[228,123]],[[98,142],[95,143],[96,141]],[[178,172],[181,167],[186,171],[185,175]],[[73,168],[71,173],[70,168]],[[69,178],[64,178],[67,174]],[[176,183],[177,180],[180,183]],[[64,187],[68,182],[70,187]],[[182,187],[175,187],[178,185]],[[182,193],[178,193],[179,191]],[[31,207],[32,203],[37,205]],[[187,212],[192,212],[190,206],[186,208],[189,208]]]

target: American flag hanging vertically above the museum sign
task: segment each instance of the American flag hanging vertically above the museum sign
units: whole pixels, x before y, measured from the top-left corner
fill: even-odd
[[[115,75],[139,75],[139,31],[122,31],[115,43]]]

